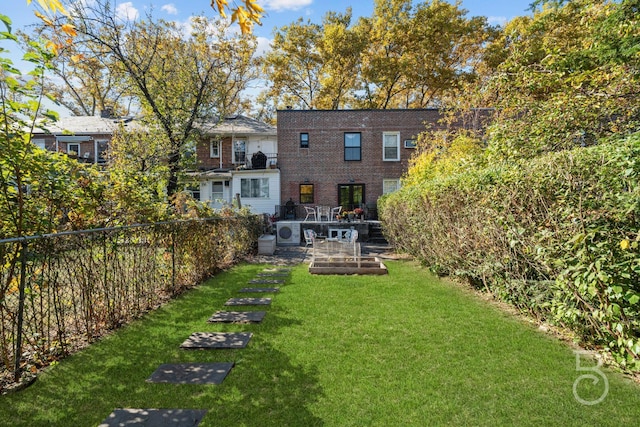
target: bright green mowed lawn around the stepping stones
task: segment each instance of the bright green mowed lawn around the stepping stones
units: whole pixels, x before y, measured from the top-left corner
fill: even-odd
[[[116,408],[206,409],[201,426],[622,426],[640,387],[603,370],[608,393],[574,397],[576,355],[410,261],[388,276],[311,276],[295,267],[256,325],[207,318],[264,265],[209,280],[0,397],[0,425],[96,426]],[[265,285],[272,286],[272,285]],[[266,296],[266,295],[249,295]],[[237,310],[237,308],[229,308]],[[253,307],[251,310],[265,308]],[[181,350],[192,332],[248,331],[245,349]],[[162,363],[235,362],[221,385],[151,384]],[[581,368],[596,368],[581,357]],[[596,400],[600,380],[579,381]]]

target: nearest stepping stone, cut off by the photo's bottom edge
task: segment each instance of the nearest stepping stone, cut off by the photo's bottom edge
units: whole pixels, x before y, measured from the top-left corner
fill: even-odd
[[[206,415],[201,409],[116,409],[98,427],[193,427]]]

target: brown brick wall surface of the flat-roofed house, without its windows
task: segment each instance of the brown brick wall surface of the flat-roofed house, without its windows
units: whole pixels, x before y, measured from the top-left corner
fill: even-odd
[[[299,203],[299,185],[314,184],[314,205],[337,206],[339,184],[364,184],[365,203],[382,195],[383,179],[399,179],[415,149],[404,141],[438,127],[441,115],[423,110],[280,110],[278,111],[278,165],[281,200]],[[300,133],[309,134],[309,148],[300,148]],[[344,160],[345,132],[361,134],[360,161]],[[400,132],[400,161],[383,160],[383,133]]]

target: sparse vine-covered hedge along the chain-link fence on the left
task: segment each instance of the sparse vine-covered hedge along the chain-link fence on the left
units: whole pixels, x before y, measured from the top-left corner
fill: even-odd
[[[255,249],[258,216],[0,241],[0,392]]]

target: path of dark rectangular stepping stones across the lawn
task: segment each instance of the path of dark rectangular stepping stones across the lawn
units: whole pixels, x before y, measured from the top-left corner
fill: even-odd
[[[288,268],[269,268],[258,273],[250,284],[281,285],[289,277]],[[280,288],[242,288],[243,293],[276,293]],[[230,298],[226,306],[271,305],[271,298]],[[217,311],[209,319],[211,323],[260,323],[265,311]],[[245,348],[253,336],[250,332],[194,332],[181,345],[184,349]],[[171,384],[221,384],[234,364],[175,363],[160,365],[147,379],[150,383]],[[131,409],[119,408],[98,427],[195,427],[207,414],[200,409]]]

